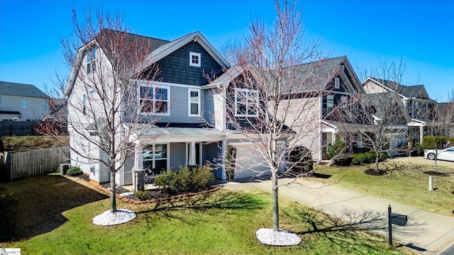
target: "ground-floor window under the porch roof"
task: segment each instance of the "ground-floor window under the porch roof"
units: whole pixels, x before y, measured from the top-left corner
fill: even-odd
[[[153,174],[167,171],[167,145],[147,145],[142,153],[143,169],[150,169]]]

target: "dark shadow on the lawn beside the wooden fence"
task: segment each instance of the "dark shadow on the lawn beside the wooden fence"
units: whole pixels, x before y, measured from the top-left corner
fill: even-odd
[[[0,183],[0,242],[28,239],[67,222],[62,212],[108,198],[57,175]]]

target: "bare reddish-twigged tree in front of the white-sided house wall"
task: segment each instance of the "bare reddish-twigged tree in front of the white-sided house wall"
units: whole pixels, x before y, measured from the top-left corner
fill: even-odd
[[[72,13],[74,34],[62,39],[69,79],[60,79],[67,96],[67,128],[72,161],[101,164],[110,172],[111,212],[116,212],[116,173],[133,154],[138,137],[166,111],[167,97],[150,83],[158,69],[150,64],[149,38],[134,35],[121,16],[89,11],[84,19]],[[140,99],[139,99],[140,98]],[[144,125],[146,123],[147,125]],[[49,130],[52,132],[52,130]]]

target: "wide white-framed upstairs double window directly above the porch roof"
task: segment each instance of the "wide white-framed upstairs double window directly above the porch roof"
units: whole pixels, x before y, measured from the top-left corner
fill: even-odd
[[[140,86],[140,113],[169,115],[169,91],[168,86]]]

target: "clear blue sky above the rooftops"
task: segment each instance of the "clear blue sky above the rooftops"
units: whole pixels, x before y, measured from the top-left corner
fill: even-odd
[[[251,20],[269,23],[274,1],[12,1],[0,0],[0,80],[44,91],[55,72],[68,73],[60,38],[72,33],[71,11],[103,4],[123,13],[133,33],[174,40],[196,30],[214,47],[248,34]],[[308,38],[323,39],[326,55],[346,55],[357,72],[382,61],[406,59],[403,84],[423,84],[445,101],[454,91],[454,1],[304,1]]]

